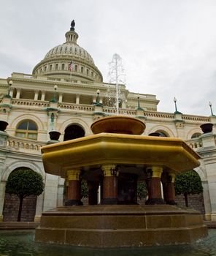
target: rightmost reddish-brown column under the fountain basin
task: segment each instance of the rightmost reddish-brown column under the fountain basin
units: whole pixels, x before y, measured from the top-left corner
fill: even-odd
[[[177,204],[175,203],[174,178],[175,178],[174,173],[168,173],[166,177],[166,183],[164,184],[164,187],[163,187],[164,199],[166,201],[166,204],[169,204],[169,205]]]

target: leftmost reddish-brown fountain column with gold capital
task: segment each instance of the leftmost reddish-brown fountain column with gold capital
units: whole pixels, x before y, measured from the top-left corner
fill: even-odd
[[[80,170],[68,170],[67,179],[69,182],[67,191],[66,206],[82,206],[81,202],[81,181]]]

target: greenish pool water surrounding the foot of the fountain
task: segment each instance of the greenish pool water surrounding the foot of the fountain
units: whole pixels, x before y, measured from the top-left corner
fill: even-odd
[[[124,249],[90,249],[34,242],[34,231],[0,230],[0,256],[212,256],[216,255],[216,230],[190,245]]]

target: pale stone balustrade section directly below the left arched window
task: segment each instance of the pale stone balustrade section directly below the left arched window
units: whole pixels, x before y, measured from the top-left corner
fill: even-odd
[[[21,151],[28,154],[41,154],[41,147],[46,143],[37,140],[28,140],[24,138],[18,138],[9,136],[6,140],[6,146],[12,151]]]

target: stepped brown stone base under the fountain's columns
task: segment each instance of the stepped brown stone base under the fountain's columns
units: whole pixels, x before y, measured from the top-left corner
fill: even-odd
[[[198,211],[177,206],[66,206],[42,214],[35,240],[88,247],[189,244],[207,236]]]

